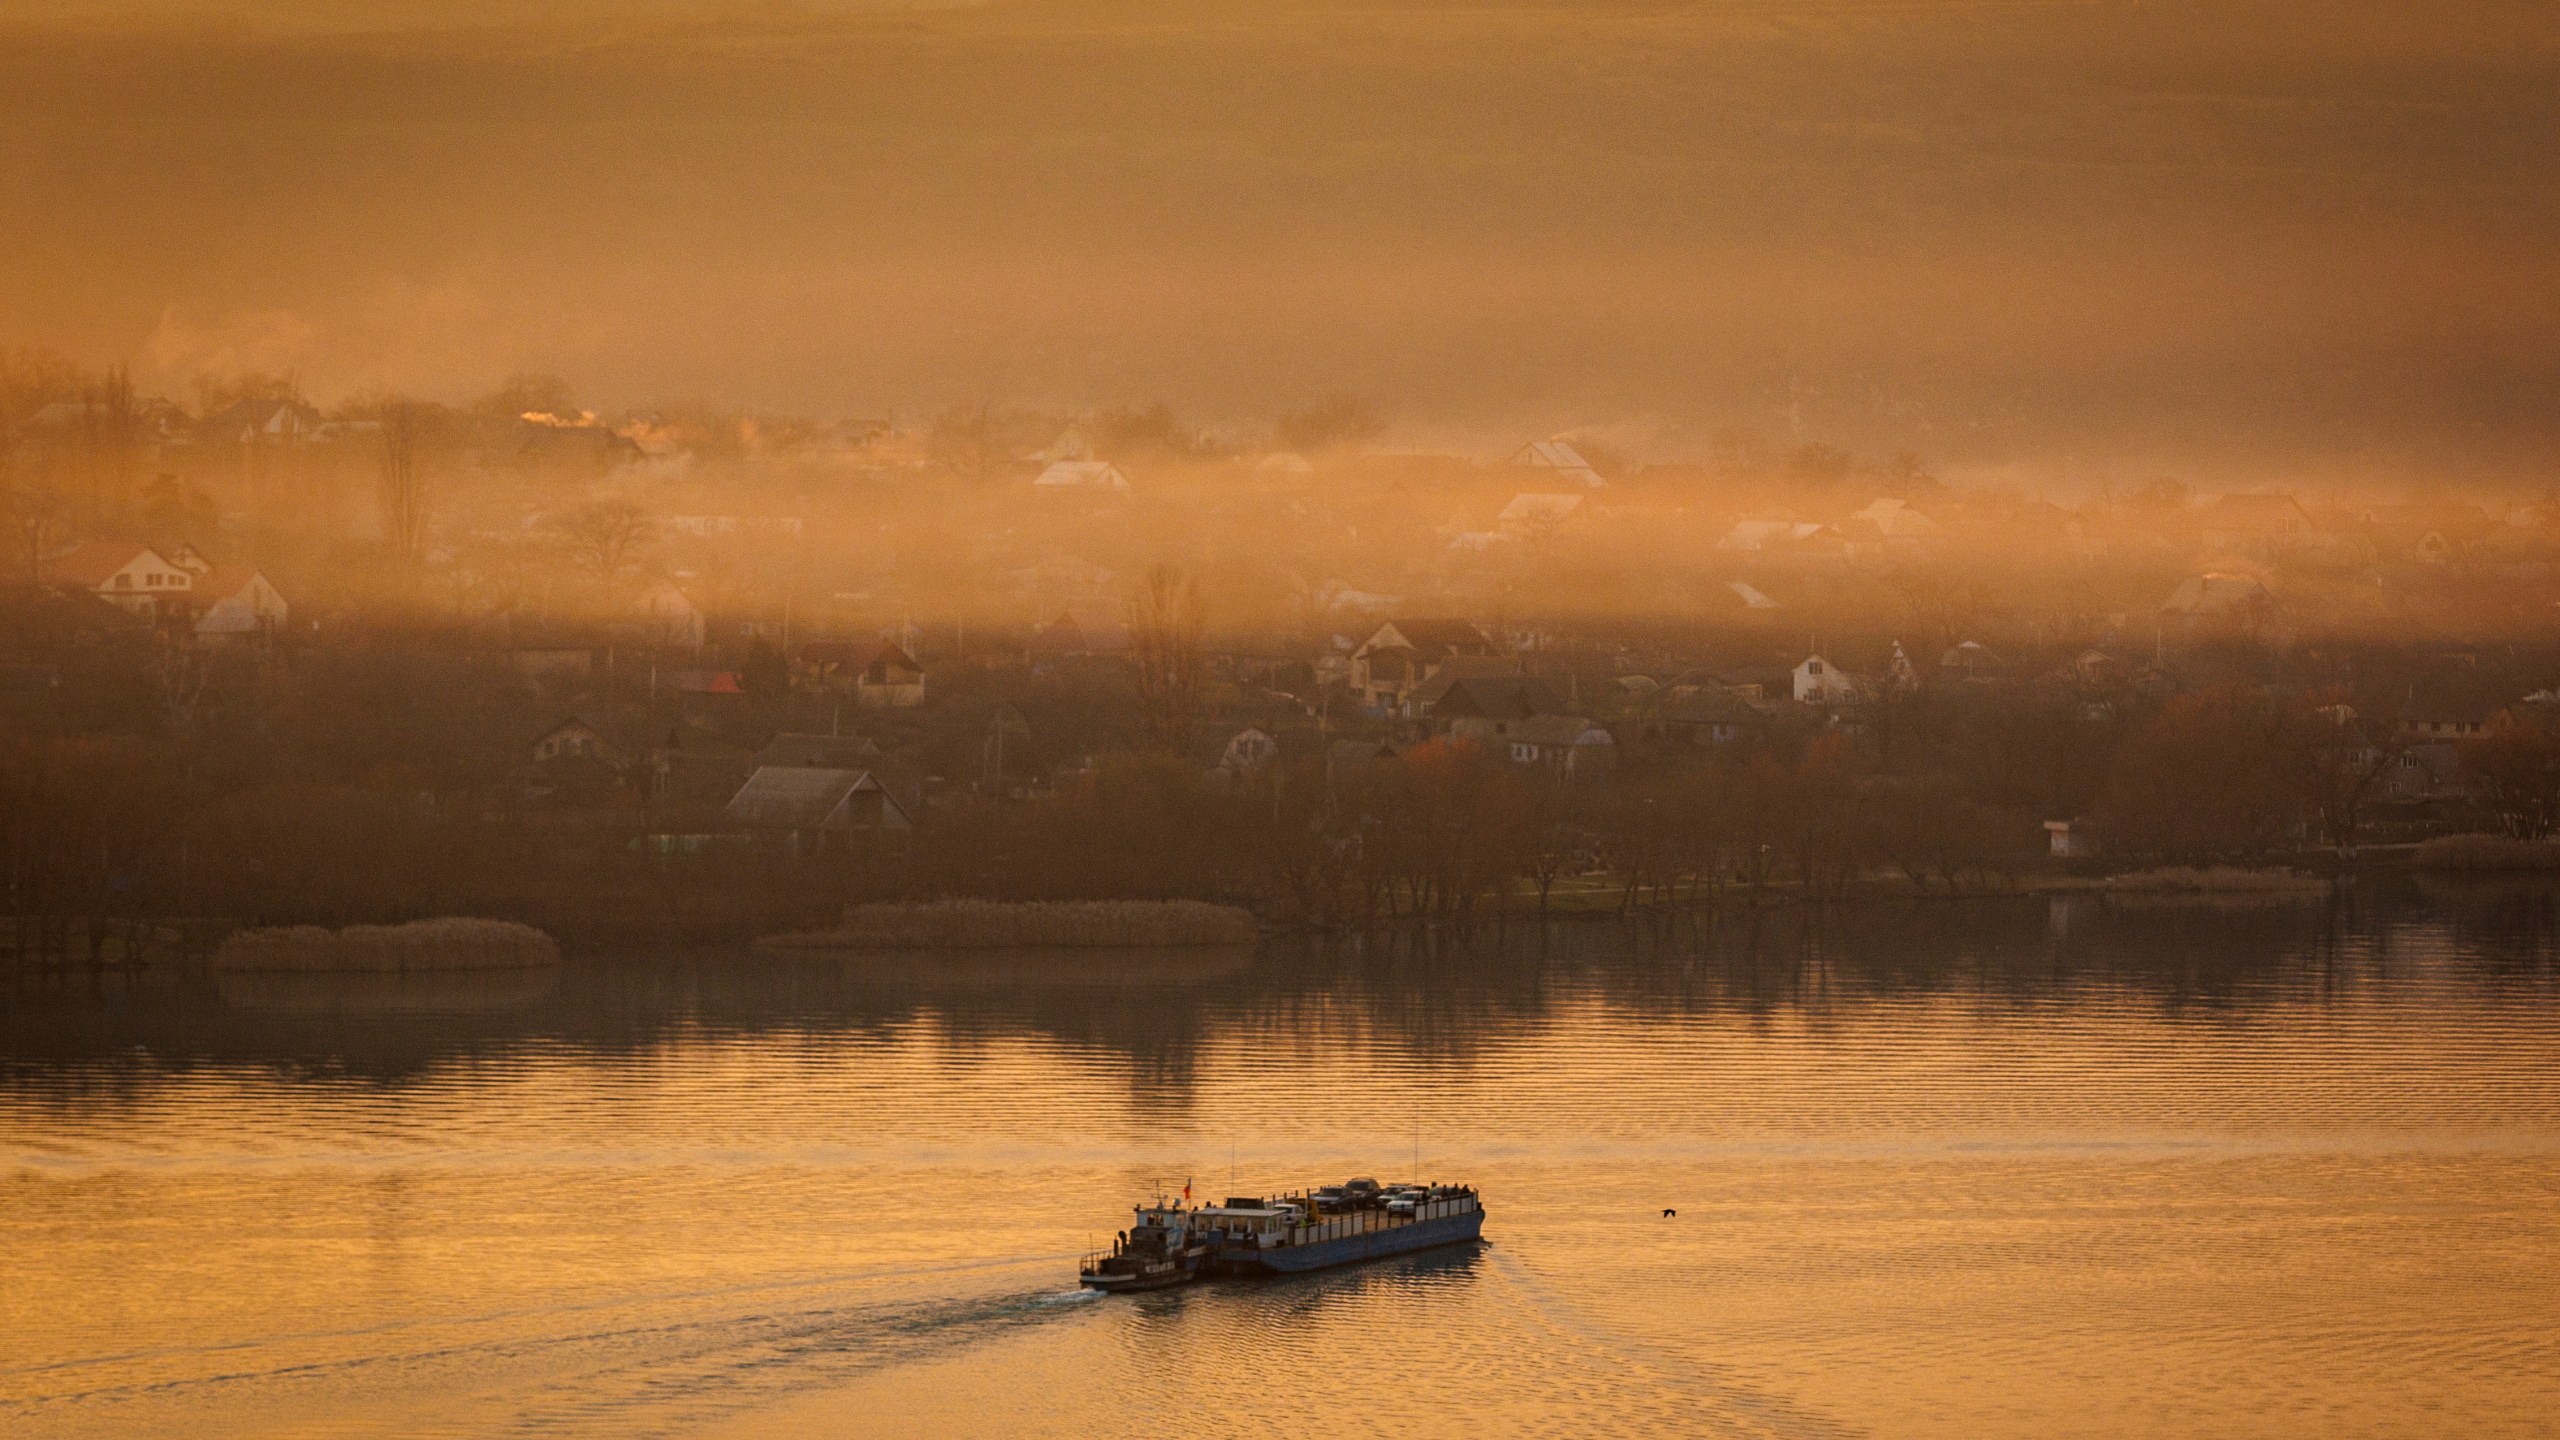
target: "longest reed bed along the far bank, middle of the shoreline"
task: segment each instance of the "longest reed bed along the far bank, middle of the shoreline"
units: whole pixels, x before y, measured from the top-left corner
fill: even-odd
[[[858,904],[835,930],[773,935],[783,951],[1021,951],[1249,945],[1252,912],[1201,899],[937,899]]]

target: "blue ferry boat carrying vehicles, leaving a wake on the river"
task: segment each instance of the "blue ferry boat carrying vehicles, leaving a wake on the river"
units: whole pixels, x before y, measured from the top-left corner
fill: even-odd
[[[1137,1217],[1108,1256],[1085,1258],[1083,1284],[1162,1289],[1206,1276],[1321,1271],[1485,1238],[1485,1202],[1464,1184],[1354,1179],[1188,1209],[1157,1202]]]

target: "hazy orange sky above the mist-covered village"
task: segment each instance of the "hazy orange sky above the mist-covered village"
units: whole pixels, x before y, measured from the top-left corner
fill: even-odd
[[[13,5],[0,343],[177,395],[2560,454],[2537,3],[195,10]]]

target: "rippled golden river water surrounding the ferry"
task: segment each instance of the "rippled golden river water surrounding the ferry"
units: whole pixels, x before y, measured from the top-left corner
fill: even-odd
[[[1492,1245],[1073,1286],[1160,1189],[1349,1174],[1475,1181]],[[2555,1417],[2547,889],[0,974],[13,1437]]]

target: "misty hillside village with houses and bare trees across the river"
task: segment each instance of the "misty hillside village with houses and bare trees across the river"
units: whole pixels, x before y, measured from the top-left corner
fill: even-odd
[[[189,410],[18,366],[0,423],[20,943],[873,894],[1334,925],[2560,820],[2529,495],[1413,454],[1347,400],[602,420],[540,377]]]

